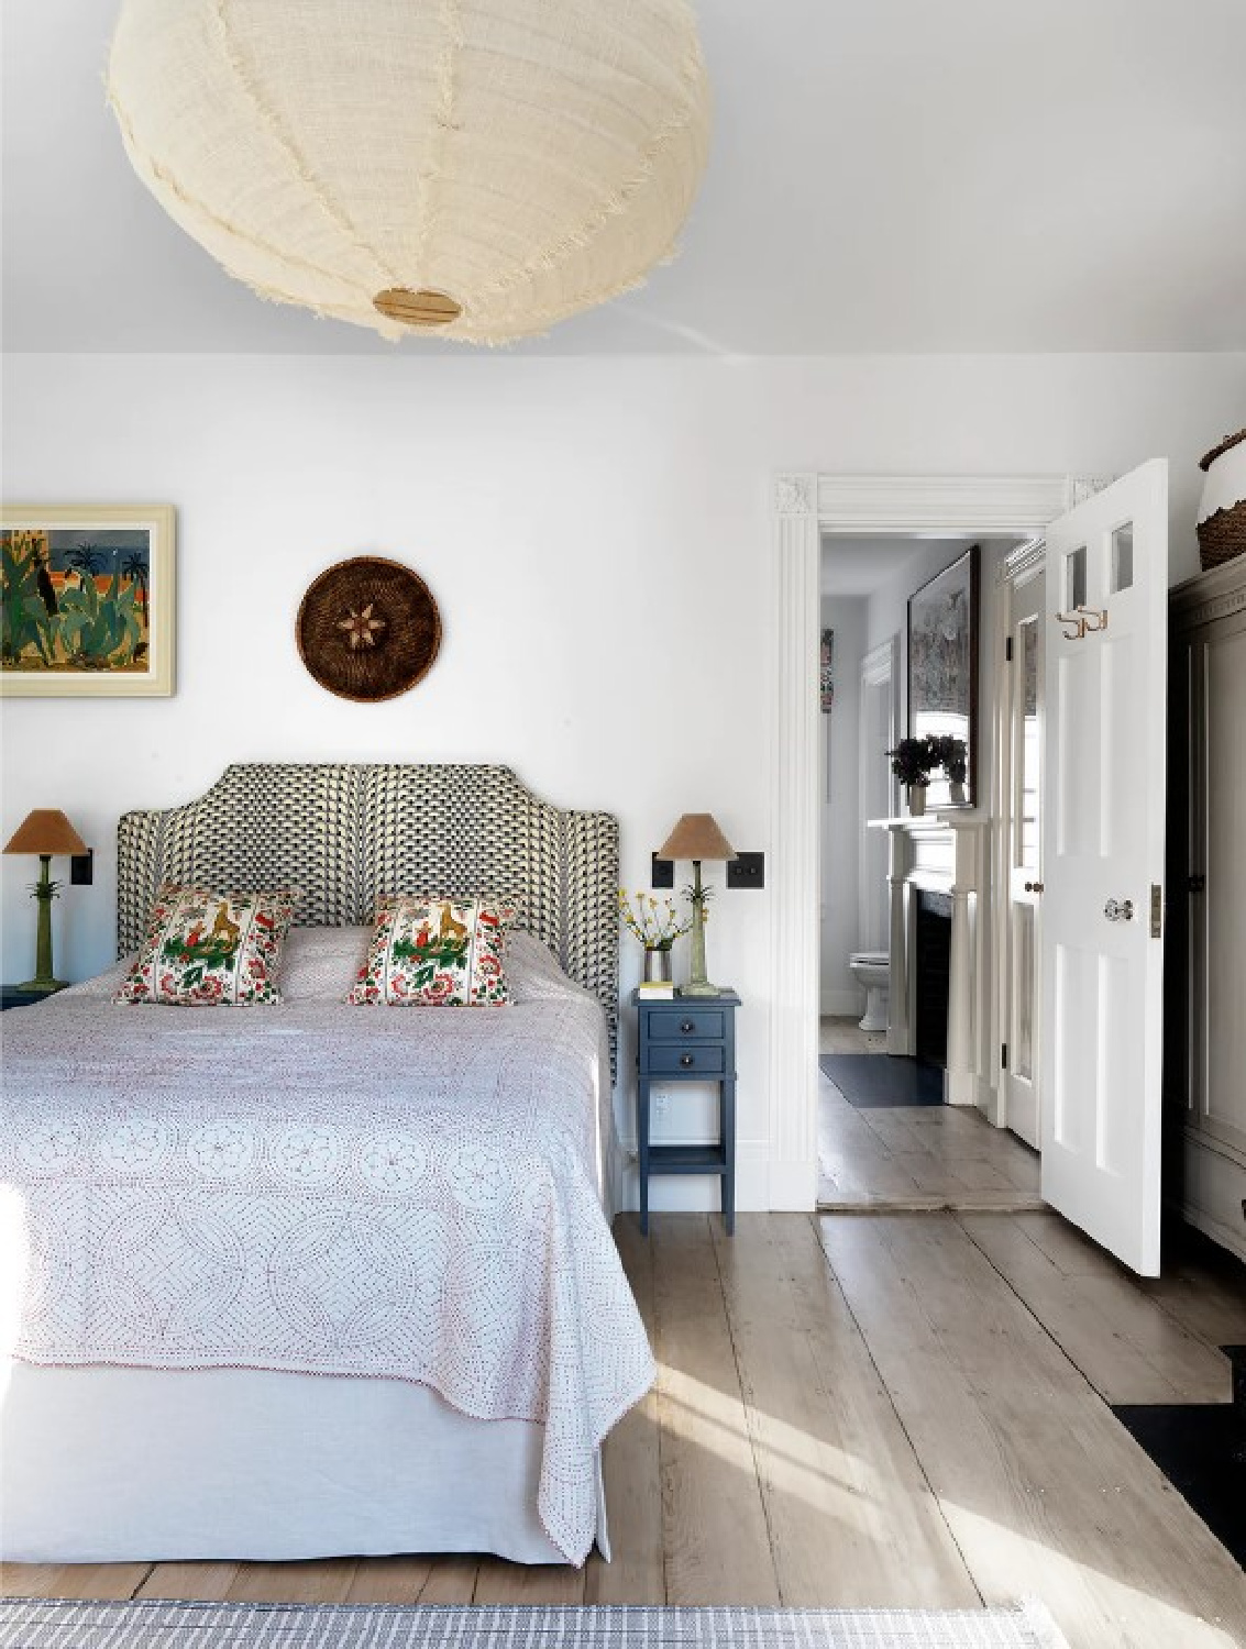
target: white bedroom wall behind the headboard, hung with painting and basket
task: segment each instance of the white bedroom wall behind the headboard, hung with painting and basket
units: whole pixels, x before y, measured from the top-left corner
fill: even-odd
[[[96,886],[56,910],[81,978],[112,951],[117,815],[195,796],[229,760],[502,760],[553,801],[614,810],[632,886],[683,810],[769,848],[769,475],[1168,455],[1188,574],[1196,458],[1243,420],[1246,355],[15,356],[5,402],[7,498],[178,508],[177,696],[2,706],[5,836],[59,806],[97,849]],[[380,706],[322,693],[292,641],[310,577],[368,549],[409,559],[446,623],[427,681]],[[28,966],[30,874],[0,861],[5,978]],[[769,892],[718,900],[710,968],[744,998],[746,1204],[766,1197],[779,943]]]

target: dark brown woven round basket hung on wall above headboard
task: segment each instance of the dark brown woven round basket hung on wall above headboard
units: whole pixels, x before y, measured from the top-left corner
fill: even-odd
[[[315,579],[294,625],[299,656],[340,699],[394,699],[421,681],[441,646],[427,584],[399,561],[355,556]]]

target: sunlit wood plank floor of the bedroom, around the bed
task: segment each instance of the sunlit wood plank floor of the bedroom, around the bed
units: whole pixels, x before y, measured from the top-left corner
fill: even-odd
[[[1233,1649],[1246,1578],[1112,1402],[1225,1400],[1233,1261],[1137,1283],[1053,1214],[658,1215],[660,1379],[606,1449],[616,1558],[13,1567],[41,1596],[975,1608],[1071,1649]]]

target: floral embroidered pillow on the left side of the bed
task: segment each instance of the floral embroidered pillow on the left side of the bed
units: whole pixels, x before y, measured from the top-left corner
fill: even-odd
[[[281,1001],[277,970],[297,890],[226,892],[167,882],[117,1003],[236,1008]]]

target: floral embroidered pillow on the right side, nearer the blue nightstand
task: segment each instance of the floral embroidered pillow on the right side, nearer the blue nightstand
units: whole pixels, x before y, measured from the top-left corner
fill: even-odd
[[[493,899],[386,899],[348,1003],[500,1008],[513,907]]]

